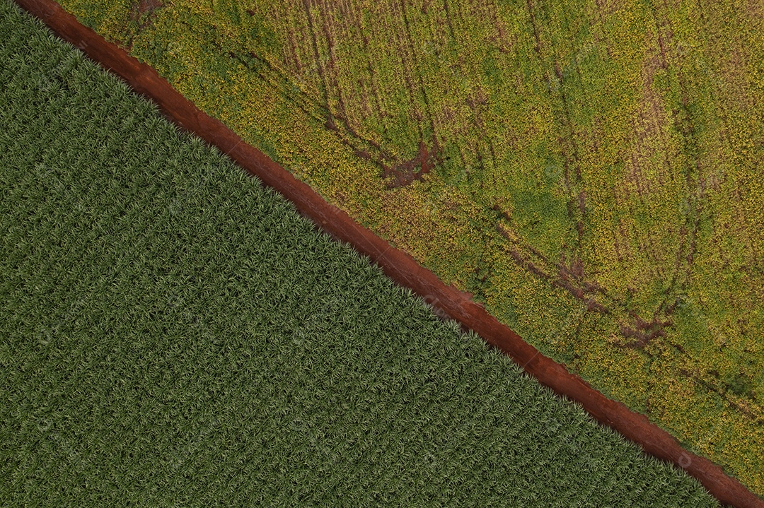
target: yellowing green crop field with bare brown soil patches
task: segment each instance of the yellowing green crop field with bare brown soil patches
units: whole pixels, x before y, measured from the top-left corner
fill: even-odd
[[[761,0],[61,0],[764,494]]]

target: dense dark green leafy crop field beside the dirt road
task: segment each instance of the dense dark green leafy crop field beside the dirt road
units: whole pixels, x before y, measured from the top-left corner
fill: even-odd
[[[716,506],[0,0],[0,505]]]

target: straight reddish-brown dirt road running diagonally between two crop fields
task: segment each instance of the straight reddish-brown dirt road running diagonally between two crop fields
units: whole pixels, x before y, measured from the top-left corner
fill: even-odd
[[[721,503],[736,508],[764,508],[764,501],[743,484],[707,458],[685,449],[646,416],[634,413],[619,402],[609,400],[589,384],[567,371],[551,358],[540,354],[533,346],[507,326],[490,316],[469,294],[446,286],[432,272],[422,268],[406,252],[390,246],[370,230],[355,223],[348,214],[324,201],[316,191],[299,182],[260,150],[244,143],[220,121],[199,111],[183,98],[150,66],[139,63],[125,50],[106,42],[88,27],[79,24],[71,14],[52,0],[16,0],[21,8],[40,18],[53,32],[73,43],[105,69],[120,76],[134,90],[147,96],[180,127],[217,146],[223,153],[261,181],[292,201],[297,209],[322,230],[337,240],[349,243],[359,252],[377,262],[398,284],[416,291],[429,304],[474,330],[491,345],[509,355],[539,382],[581,404],[600,423],[616,429],[627,439],[639,444],[649,455],[669,461],[698,478],[701,484]]]

